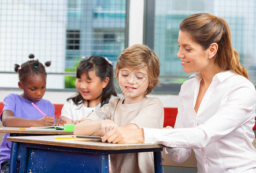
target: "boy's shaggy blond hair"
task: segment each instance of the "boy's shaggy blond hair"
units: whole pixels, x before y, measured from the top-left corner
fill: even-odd
[[[121,52],[117,58],[116,70],[114,72],[116,74],[117,81],[119,71],[124,67],[132,70],[146,67],[147,74],[149,74],[149,87],[145,92],[145,96],[149,94],[159,83],[159,58],[157,54],[146,45],[135,44]]]

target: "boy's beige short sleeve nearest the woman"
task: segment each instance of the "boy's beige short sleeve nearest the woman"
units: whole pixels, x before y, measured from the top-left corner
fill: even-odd
[[[130,123],[139,127],[162,129],[164,125],[164,107],[161,101],[157,98],[149,98],[143,103],[139,114]]]

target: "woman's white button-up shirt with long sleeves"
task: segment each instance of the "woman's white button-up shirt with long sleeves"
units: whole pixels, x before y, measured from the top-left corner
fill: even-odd
[[[175,147],[167,151],[177,162],[194,149],[198,172],[256,172],[255,86],[231,71],[218,73],[196,114],[202,77],[194,76],[181,86],[175,129],[144,128],[144,142]]]

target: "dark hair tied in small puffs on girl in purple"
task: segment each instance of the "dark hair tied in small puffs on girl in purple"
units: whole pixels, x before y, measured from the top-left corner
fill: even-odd
[[[24,82],[27,80],[28,76],[33,76],[35,74],[44,74],[46,77],[47,74],[44,67],[49,67],[51,65],[51,62],[47,61],[43,65],[38,61],[38,59],[34,60],[34,54],[29,54],[28,58],[30,60],[23,63],[21,66],[18,64],[14,64],[14,71],[18,72],[18,79],[21,82]]]

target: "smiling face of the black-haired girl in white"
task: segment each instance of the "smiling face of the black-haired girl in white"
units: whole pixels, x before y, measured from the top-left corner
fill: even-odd
[[[81,74],[81,78],[76,78],[76,89],[85,100],[97,101],[101,100],[101,93],[109,82],[109,78],[101,81],[101,78],[96,76],[95,70],[88,72],[87,78],[86,73]]]

